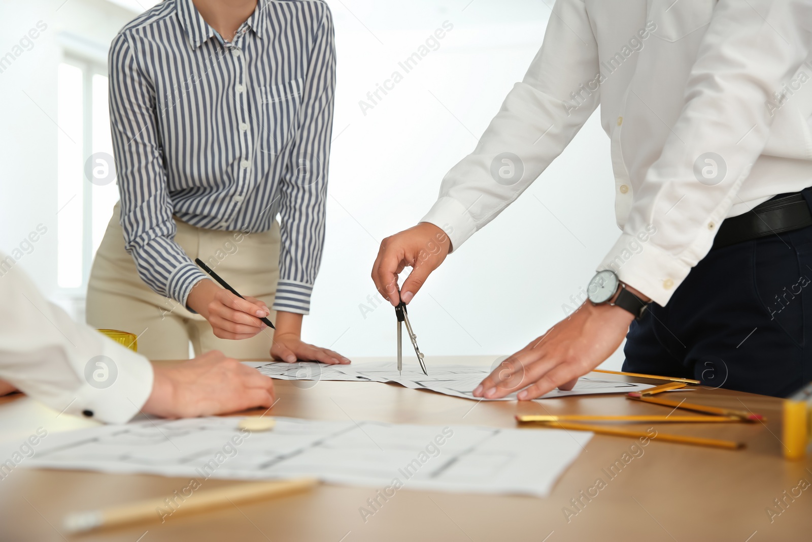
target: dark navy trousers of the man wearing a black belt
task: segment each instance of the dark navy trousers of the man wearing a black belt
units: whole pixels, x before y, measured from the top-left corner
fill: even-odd
[[[796,392],[812,380],[812,226],[711,250],[626,339],[624,371]]]

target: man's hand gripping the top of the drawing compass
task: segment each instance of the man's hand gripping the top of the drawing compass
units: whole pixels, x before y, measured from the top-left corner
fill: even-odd
[[[372,267],[375,288],[392,306],[397,306],[401,300],[408,303],[449,252],[451,240],[434,224],[421,222],[413,228],[395,233],[384,239],[378,250],[378,258]],[[405,267],[412,267],[412,272],[404,282],[399,297],[398,275]]]

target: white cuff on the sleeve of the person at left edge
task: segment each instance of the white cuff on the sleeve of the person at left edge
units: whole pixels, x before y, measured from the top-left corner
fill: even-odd
[[[86,382],[72,401],[68,399],[71,402],[64,411],[104,423],[126,423],[152,393],[152,363],[107,337],[102,339],[101,353],[85,371]]]

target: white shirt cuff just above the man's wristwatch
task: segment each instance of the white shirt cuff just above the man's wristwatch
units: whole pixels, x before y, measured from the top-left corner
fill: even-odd
[[[659,306],[665,306],[688,276],[691,266],[646,241],[647,234],[622,234],[597,271],[615,271],[625,284],[637,288]]]

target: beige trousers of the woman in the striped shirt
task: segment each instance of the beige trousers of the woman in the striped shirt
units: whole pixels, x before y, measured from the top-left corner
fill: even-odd
[[[90,271],[90,326],[135,333],[138,352],[149,359],[187,359],[190,340],[196,355],[220,350],[231,358],[270,359],[274,330],[267,328],[250,339],[220,339],[200,314],[153,292],[124,249],[119,214],[117,203]],[[242,295],[273,305],[279,281],[278,223],[260,233],[218,232],[179,219],[175,224],[175,242],[189,258],[201,258]],[[271,311],[269,318],[275,321],[276,313]]]

